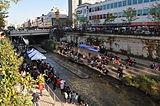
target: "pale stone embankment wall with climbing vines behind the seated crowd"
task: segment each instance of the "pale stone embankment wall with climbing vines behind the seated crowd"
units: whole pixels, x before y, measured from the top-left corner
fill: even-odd
[[[91,43],[98,42],[108,50],[136,56],[160,58],[160,37],[66,33],[61,40]]]

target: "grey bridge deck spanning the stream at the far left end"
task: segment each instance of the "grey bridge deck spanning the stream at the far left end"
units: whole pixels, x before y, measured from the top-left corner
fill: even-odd
[[[50,33],[50,30],[11,31],[9,36],[49,35],[49,33]]]

